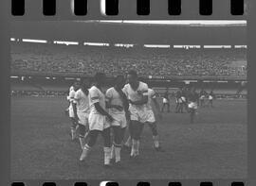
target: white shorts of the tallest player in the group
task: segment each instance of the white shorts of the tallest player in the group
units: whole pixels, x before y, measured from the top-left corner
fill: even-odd
[[[131,120],[138,121],[140,123],[146,123],[146,122],[155,122],[155,115],[153,110],[137,110],[137,109],[131,109]]]

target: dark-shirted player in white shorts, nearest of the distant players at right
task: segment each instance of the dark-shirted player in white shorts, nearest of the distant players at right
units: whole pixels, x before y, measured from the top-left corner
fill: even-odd
[[[188,100],[189,100],[189,110],[190,110],[190,117],[191,117],[191,124],[194,121],[195,111],[197,110],[197,101],[198,101],[198,93],[195,92],[195,88],[192,87],[191,93],[189,93]]]

